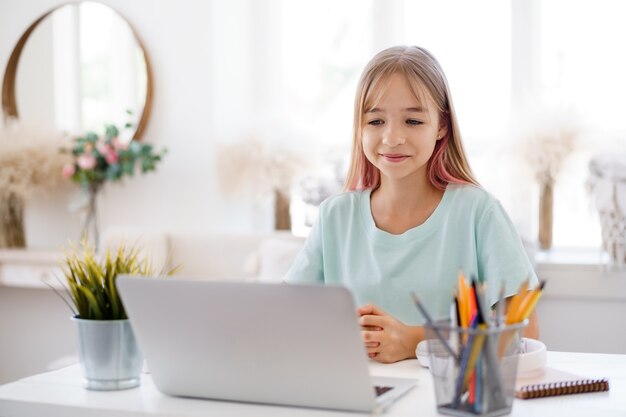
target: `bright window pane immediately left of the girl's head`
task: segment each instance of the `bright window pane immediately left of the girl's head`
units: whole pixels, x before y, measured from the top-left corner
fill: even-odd
[[[296,184],[296,235],[308,233],[320,200],[341,189],[337,177],[350,152],[354,92],[371,55],[372,18],[372,1],[283,2],[284,107],[290,123],[307,132],[327,161]]]

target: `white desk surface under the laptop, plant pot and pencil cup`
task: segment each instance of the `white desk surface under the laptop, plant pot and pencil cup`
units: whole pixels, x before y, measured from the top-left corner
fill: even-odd
[[[549,352],[548,365],[588,377],[607,377],[609,392],[535,400],[515,400],[512,416],[626,416],[626,355]],[[419,378],[418,386],[395,403],[386,415],[437,416],[432,379],[415,360],[393,365],[372,363],[372,373]],[[0,386],[2,417],[117,416],[255,416],[355,417],[361,414],[292,407],[241,404],[169,397],[155,388],[149,374],[139,388],[96,392],[82,388],[77,365]]]

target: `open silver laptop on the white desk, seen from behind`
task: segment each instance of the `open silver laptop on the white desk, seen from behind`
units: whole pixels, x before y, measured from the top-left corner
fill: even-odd
[[[117,286],[168,395],[380,412],[416,383],[370,376],[343,287],[129,276]]]

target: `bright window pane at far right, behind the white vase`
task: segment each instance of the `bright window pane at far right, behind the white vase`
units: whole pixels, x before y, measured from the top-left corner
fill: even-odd
[[[624,134],[625,15],[626,3],[617,0],[541,2],[538,99],[571,109],[583,129],[555,188],[555,246],[601,243],[584,184],[591,156],[618,146]]]

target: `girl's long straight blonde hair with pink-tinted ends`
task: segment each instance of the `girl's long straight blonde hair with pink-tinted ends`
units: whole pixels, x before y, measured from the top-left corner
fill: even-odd
[[[394,74],[403,75],[420,101],[436,106],[447,133],[437,141],[428,161],[428,178],[437,189],[449,183],[474,184],[450,97],[448,81],[435,57],[418,46],[395,46],[385,49],[367,64],[361,74],[354,101],[352,160],[344,190],[353,191],[380,186],[380,171],[365,156],[362,145],[363,115],[372,107]]]

